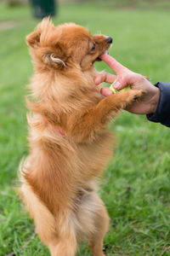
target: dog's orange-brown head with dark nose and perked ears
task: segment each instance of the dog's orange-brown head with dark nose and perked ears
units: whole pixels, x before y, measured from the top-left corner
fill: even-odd
[[[92,36],[88,29],[74,23],[54,26],[48,18],[42,20],[34,32],[26,37],[31,55],[36,63],[45,68],[58,70],[79,67],[88,70],[99,55],[109,49],[112,38]]]

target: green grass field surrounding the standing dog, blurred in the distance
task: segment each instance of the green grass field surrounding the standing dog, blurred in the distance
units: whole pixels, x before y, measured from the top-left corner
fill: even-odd
[[[75,21],[92,33],[111,35],[110,54],[156,83],[170,80],[169,11],[169,5],[119,9],[104,3],[64,4],[54,23]],[[0,256],[44,256],[48,249],[38,236],[26,246],[34,226],[14,190],[20,159],[27,154],[24,96],[32,67],[25,38],[37,20],[28,7],[8,9],[1,3],[0,13]],[[101,62],[96,67],[111,71]],[[169,130],[130,113],[122,113],[111,130],[119,143],[100,189],[111,216],[105,252],[170,255]],[[86,244],[77,255],[91,255]]]

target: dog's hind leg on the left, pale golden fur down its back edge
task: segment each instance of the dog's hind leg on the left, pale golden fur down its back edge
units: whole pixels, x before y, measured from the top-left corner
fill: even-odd
[[[33,193],[30,186],[23,184],[19,195],[26,203],[26,210],[34,219],[41,241],[49,248],[52,256],[75,256],[77,240],[74,227],[65,217],[55,218],[48,208]],[[68,219],[67,219],[68,220]]]

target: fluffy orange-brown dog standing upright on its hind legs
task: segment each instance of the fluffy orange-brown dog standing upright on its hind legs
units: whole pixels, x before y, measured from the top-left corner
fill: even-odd
[[[110,37],[92,36],[72,23],[55,27],[45,19],[26,41],[35,74],[20,195],[51,255],[73,256],[85,239],[94,256],[103,256],[109,217],[97,183],[112,154],[106,126],[142,91],[106,98],[99,93],[94,61],[110,48]]]

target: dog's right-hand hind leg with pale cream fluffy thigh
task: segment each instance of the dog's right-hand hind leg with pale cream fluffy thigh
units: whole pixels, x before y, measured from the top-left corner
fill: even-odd
[[[104,256],[103,239],[108,230],[110,218],[103,201],[95,191],[83,195],[76,217],[79,224],[77,225],[79,237],[85,237],[94,256]]]

